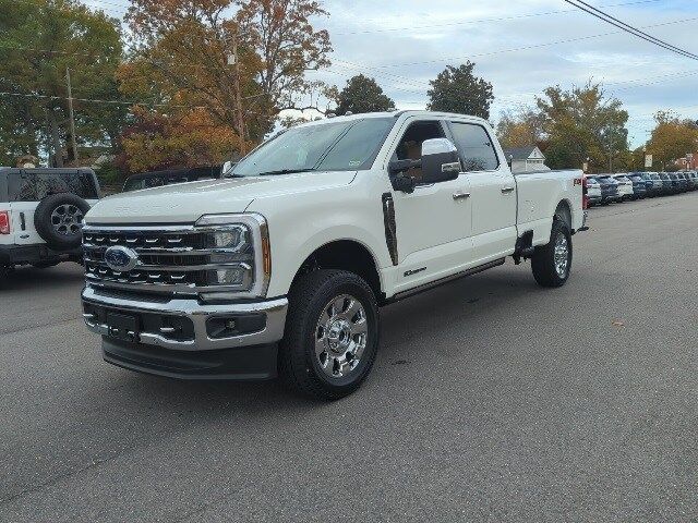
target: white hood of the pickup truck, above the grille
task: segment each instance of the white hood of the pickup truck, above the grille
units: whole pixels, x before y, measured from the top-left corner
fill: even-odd
[[[203,215],[243,212],[255,198],[348,185],[356,174],[356,171],[304,172],[146,188],[99,200],[85,216],[85,222],[193,223]]]

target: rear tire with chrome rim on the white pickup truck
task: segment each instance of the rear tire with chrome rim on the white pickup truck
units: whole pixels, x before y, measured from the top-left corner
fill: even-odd
[[[567,224],[553,220],[550,242],[535,247],[531,258],[533,278],[541,287],[563,287],[571,270],[571,233]]]

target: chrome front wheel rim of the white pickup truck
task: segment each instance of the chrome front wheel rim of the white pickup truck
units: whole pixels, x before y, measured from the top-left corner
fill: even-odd
[[[325,375],[346,377],[361,361],[368,344],[369,326],[361,302],[349,294],[330,301],[315,328],[315,357]]]

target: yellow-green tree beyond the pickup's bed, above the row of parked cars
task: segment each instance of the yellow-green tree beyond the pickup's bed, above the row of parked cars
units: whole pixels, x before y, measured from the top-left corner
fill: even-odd
[[[537,104],[549,167],[578,169],[589,158],[591,171],[604,172],[630,161],[628,113],[618,99],[605,97],[600,84],[589,82],[569,92],[549,87]]]

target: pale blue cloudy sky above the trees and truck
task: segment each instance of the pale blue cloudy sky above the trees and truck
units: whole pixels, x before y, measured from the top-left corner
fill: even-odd
[[[674,46],[698,53],[698,0],[586,0]],[[127,0],[86,0],[112,15]],[[324,0],[332,66],[311,73],[340,88],[374,77],[399,109],[423,109],[429,81],[470,60],[491,82],[491,120],[551,85],[603,83],[630,114],[630,143],[645,143],[653,114],[698,120],[698,61],[623,33],[563,0]]]

